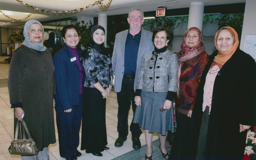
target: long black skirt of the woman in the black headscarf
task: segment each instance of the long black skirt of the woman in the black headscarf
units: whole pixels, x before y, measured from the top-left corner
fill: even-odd
[[[102,152],[107,144],[106,99],[98,89],[84,87],[81,150]]]

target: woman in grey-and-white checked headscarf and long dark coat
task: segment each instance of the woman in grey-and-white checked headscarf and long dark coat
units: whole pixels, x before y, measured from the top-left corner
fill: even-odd
[[[29,133],[40,151],[34,156],[21,156],[21,159],[49,160],[48,146],[56,142],[52,54],[44,46],[44,27],[40,22],[27,21],[23,34],[25,40],[22,46],[15,50],[10,64],[10,104],[11,108],[14,108],[15,117],[26,122]]]

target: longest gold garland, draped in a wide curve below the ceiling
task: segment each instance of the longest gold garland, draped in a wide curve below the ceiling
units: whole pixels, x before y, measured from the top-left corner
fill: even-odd
[[[19,3],[23,4],[24,6],[30,8],[30,9],[34,9],[37,12],[42,12],[42,13],[45,13],[45,14],[56,14],[56,15],[57,14],[59,14],[59,15],[75,14],[75,13],[78,13],[78,12],[82,12],[85,9],[91,8],[94,5],[98,5],[98,4],[101,5],[101,7],[103,7],[103,8],[107,8],[112,3],[112,0],[109,0],[109,2],[106,3],[106,4],[102,3],[103,0],[97,0],[94,3],[89,4],[89,5],[87,5],[86,7],[83,7],[83,8],[72,9],[72,10],[68,10],[68,11],[48,11],[48,10],[41,9],[41,8],[38,8],[38,7],[33,7],[30,4],[24,3],[21,0],[16,0],[16,1],[18,1]]]

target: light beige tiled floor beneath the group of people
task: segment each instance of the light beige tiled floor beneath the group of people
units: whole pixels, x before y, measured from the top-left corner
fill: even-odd
[[[3,62],[4,56],[0,56],[0,62]],[[8,81],[9,64],[0,63],[0,160],[20,160],[20,156],[10,155],[8,153],[8,147],[10,142],[14,139],[14,110],[10,108],[9,93],[7,88]],[[142,160],[144,159],[146,152],[146,142],[145,136],[142,134],[140,136],[140,141],[142,148],[139,150],[134,150],[132,148],[131,132],[129,131],[127,140],[124,145],[120,148],[114,146],[114,142],[118,137],[117,132],[117,98],[116,93],[112,91],[106,103],[106,129],[109,150],[103,151],[103,157],[93,156],[91,153],[85,153],[85,151],[80,150],[80,145],[78,150],[82,153],[79,160]],[[131,124],[133,118],[132,109],[129,111],[128,123]],[[55,119],[55,111],[54,111]],[[50,160],[64,160],[60,157],[59,153],[59,141],[58,132],[55,121],[55,133],[56,133],[56,143],[49,145],[49,155]],[[81,134],[80,134],[81,136]],[[155,160],[163,159],[161,152],[158,148],[159,141],[157,140],[157,134],[153,136],[153,158]],[[144,145],[144,146],[143,146]],[[169,145],[166,146],[169,152]]]

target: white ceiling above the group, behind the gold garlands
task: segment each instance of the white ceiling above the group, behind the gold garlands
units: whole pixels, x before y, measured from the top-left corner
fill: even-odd
[[[46,9],[49,11],[67,11],[78,8],[86,7],[87,5],[94,3],[96,0],[22,0],[24,3],[30,4],[31,6]],[[103,0],[104,4],[108,3],[109,0]],[[155,11],[157,7],[166,7],[167,9],[175,8],[187,8],[191,2],[201,1],[204,5],[219,5],[219,4],[232,4],[232,3],[245,3],[246,0],[113,0],[110,7],[107,9],[101,8],[98,5],[92,8],[86,9],[83,12],[73,15],[50,15],[44,14],[33,9],[30,9],[16,0],[0,0],[0,10],[16,11],[32,13],[29,19],[23,22],[15,23],[4,23],[1,27],[9,27],[18,24],[24,24],[27,20],[36,19],[39,21],[62,19],[74,16],[93,16],[97,17],[98,14],[106,15],[119,15],[127,14],[129,9],[132,7],[139,7],[144,12]],[[15,19],[21,19],[26,15],[9,15]],[[4,15],[0,15],[0,22],[8,22]]]

